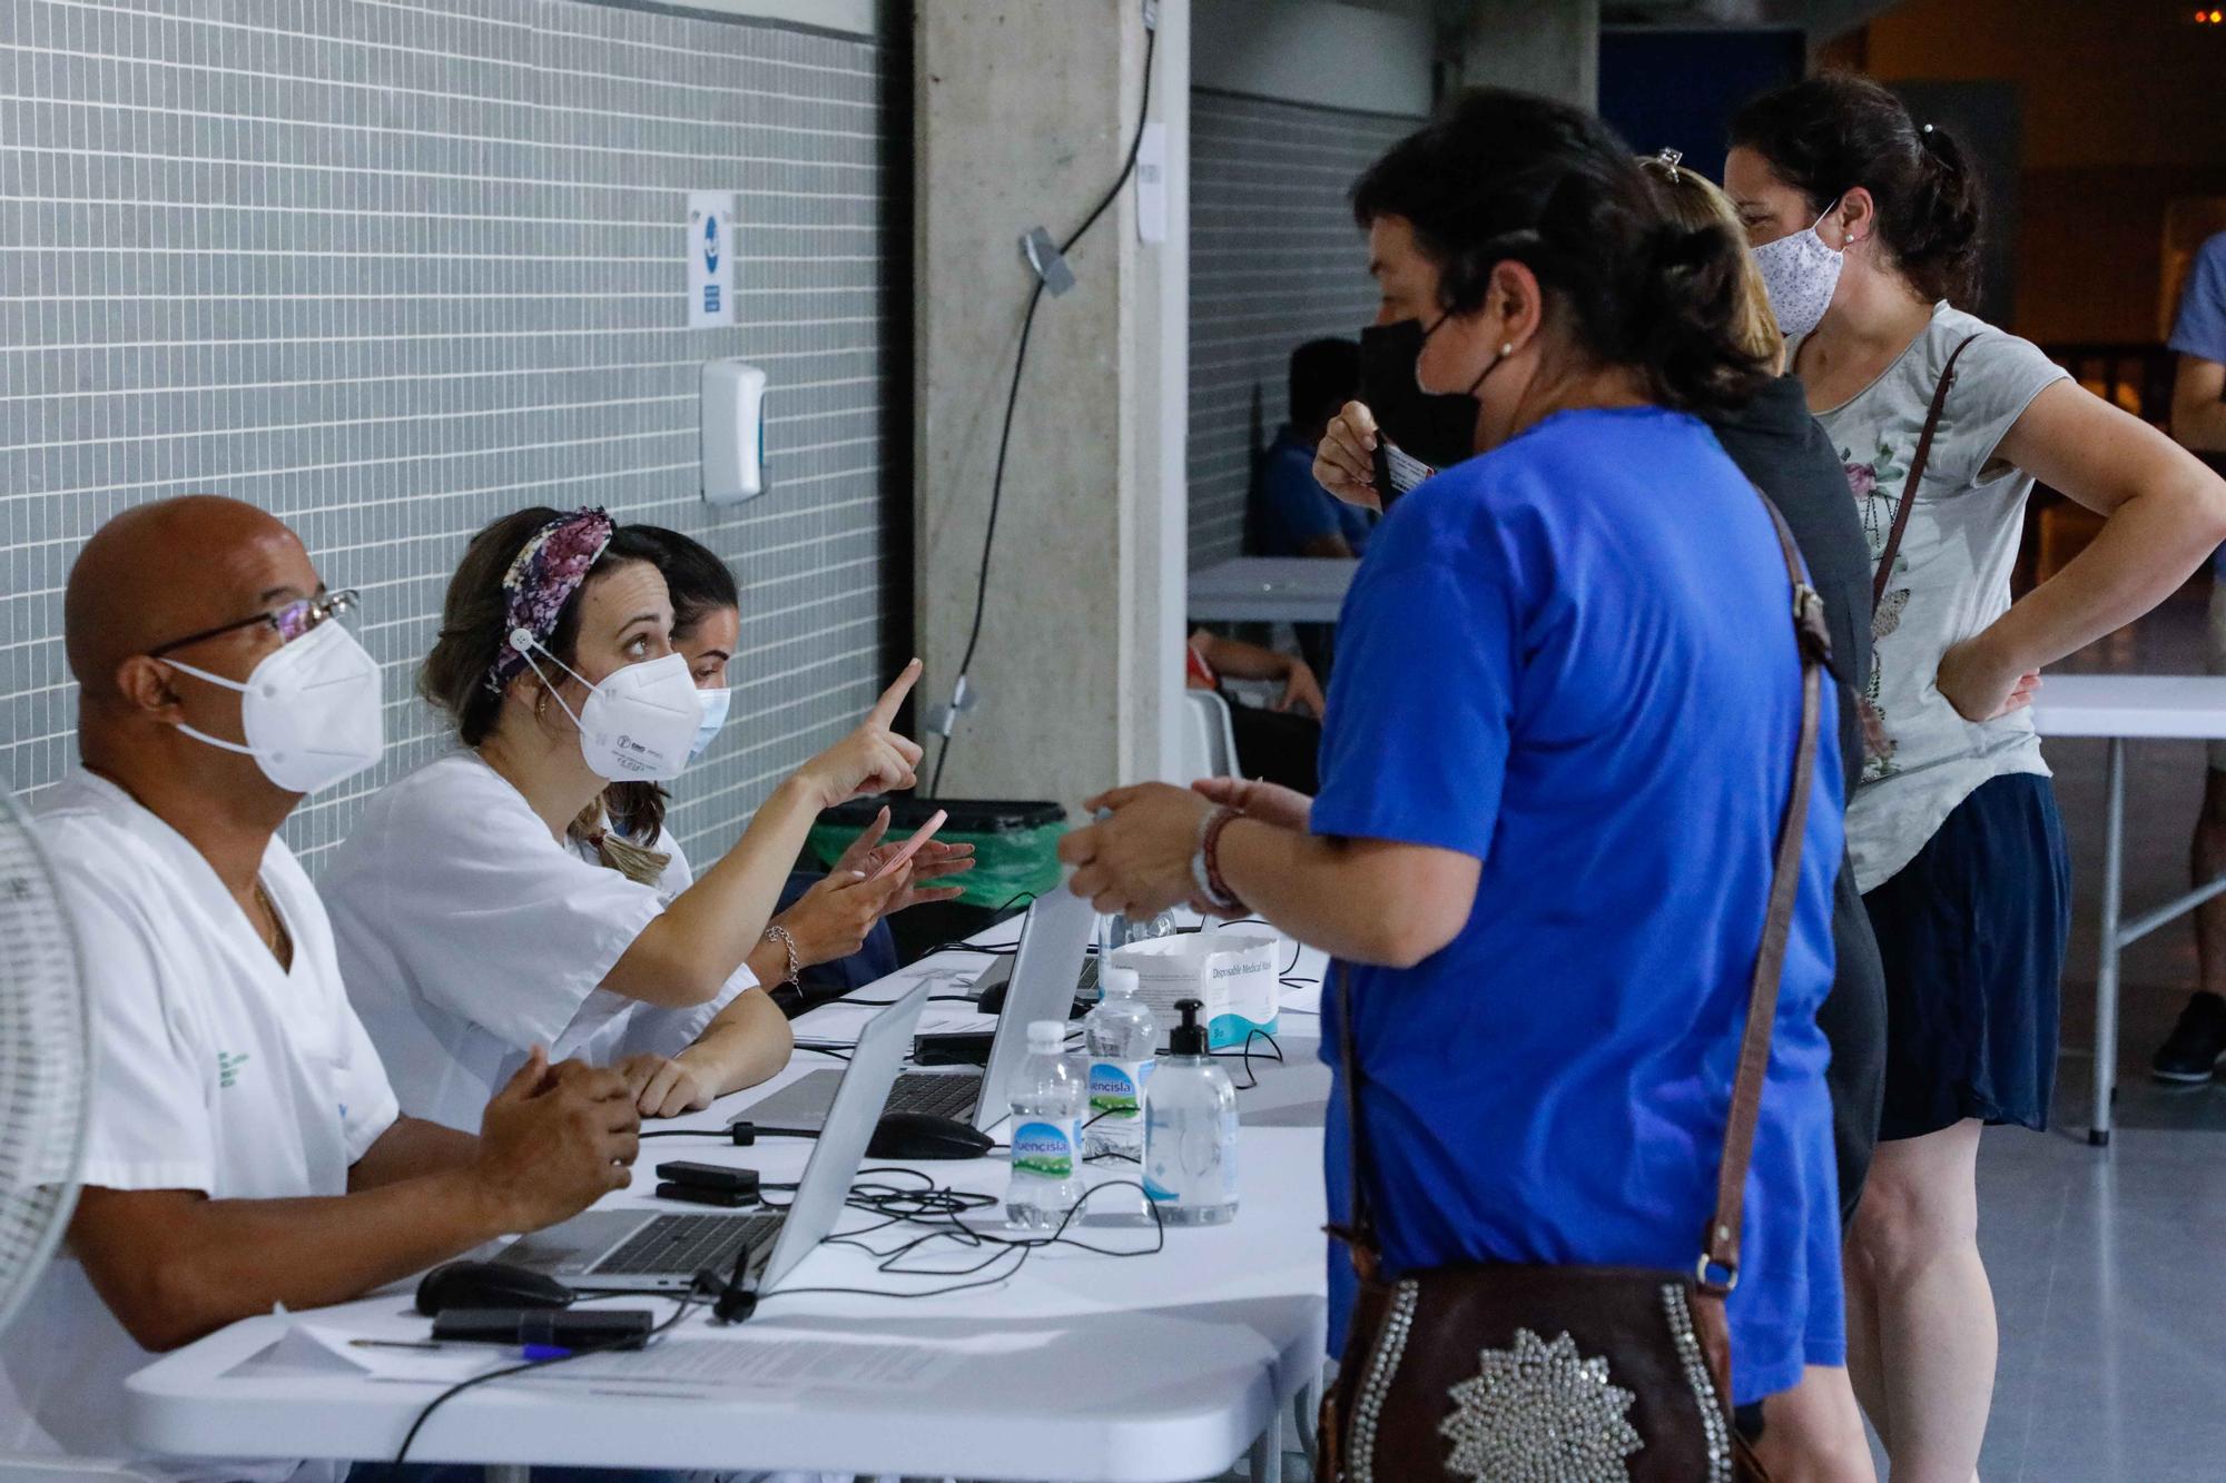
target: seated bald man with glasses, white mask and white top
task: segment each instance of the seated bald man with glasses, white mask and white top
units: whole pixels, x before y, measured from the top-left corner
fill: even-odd
[[[69,572],[85,770],[38,826],[100,1053],[69,1247],[0,1338],[0,1450],[129,1454],[122,1383],[149,1352],[280,1303],[361,1298],[628,1182],[626,1082],[539,1044],[476,1136],[396,1109],[278,839],[305,793],[381,753],[378,666],[338,621],[352,597],[292,530],[216,497],[118,514]],[[162,1470],[338,1479],[347,1463]]]

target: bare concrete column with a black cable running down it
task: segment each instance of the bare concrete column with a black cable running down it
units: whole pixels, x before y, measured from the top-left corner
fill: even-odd
[[[915,0],[915,617],[924,713],[951,699],[982,572],[1006,390],[1033,274],[1120,174],[1144,76],[1142,0]],[[988,601],[944,797],[1077,804],[1180,755],[1189,240],[1189,0],[1160,0],[1151,118],[1166,240],[1135,185],[1035,310]],[[939,746],[928,742],[928,766]]]

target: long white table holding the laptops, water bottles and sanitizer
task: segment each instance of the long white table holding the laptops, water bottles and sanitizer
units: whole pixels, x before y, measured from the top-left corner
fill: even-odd
[[[957,991],[959,962],[971,975],[982,960],[928,960],[857,998],[895,998],[922,973],[942,973]],[[1293,998],[1311,1002],[1309,991]],[[797,1033],[848,1040],[868,1013],[870,1006],[833,1004],[799,1020]],[[971,1022],[986,1020],[964,1004],[928,1004],[922,1018],[924,1027]],[[1296,1038],[1311,1035],[1313,1018],[1293,1015],[1291,1029]],[[1298,1062],[1293,1055],[1287,1076],[1311,1073]],[[719,1129],[752,1100],[828,1064],[799,1051],[766,1087],[721,1098],[668,1127]],[[1240,1096],[1240,1109],[1242,1102]],[[1309,1124],[1296,1102],[1275,1098],[1269,1124],[1242,1131],[1238,1220],[1169,1229],[1158,1256],[1115,1260],[1051,1247],[993,1289],[908,1303],[768,1296],[746,1325],[717,1329],[690,1316],[668,1336],[668,1343],[868,1345],[924,1365],[924,1378],[739,1389],[654,1374],[565,1383],[559,1367],[456,1396],[410,1456],[492,1465],[505,1479],[534,1465],[579,1465],[1186,1483],[1218,1476],[1249,1454],[1253,1479],[1273,1483],[1282,1476],[1282,1416],[1320,1378],[1327,1318],[1320,1118]],[[808,1145],[792,1140],[735,1149],[712,1138],[661,1138],[643,1145],[634,1189],[608,1205],[657,1205],[646,1198],[654,1185],[650,1167],[666,1158],[746,1165],[775,1182],[795,1180],[806,1156]],[[924,1169],[959,1189],[1004,1191],[1002,1160]],[[1093,1182],[1106,1178],[1120,1176],[1093,1171]],[[1100,1198],[1117,1205],[1126,1196]],[[837,1234],[873,1225],[877,1218],[850,1211]],[[910,1234],[917,1229],[893,1227],[868,1240],[888,1249]],[[1082,1234],[1111,1247],[1151,1238],[1149,1227],[1126,1225],[1091,1225]],[[953,1247],[946,1265],[973,1260],[975,1254]],[[955,1278],[879,1274],[864,1251],[824,1245],[784,1287],[906,1292]],[[423,1320],[396,1327],[412,1287],[318,1309],[312,1320],[352,1334],[421,1334]],[[643,1305],[670,1312],[663,1298]],[[285,1316],[249,1318],[138,1372],[127,1414],[134,1443],[187,1456],[392,1456],[441,1385],[374,1381],[289,1329]]]

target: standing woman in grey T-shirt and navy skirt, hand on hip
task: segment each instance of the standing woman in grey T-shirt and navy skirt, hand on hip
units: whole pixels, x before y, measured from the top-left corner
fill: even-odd
[[[1725,180],[1883,588],[1848,806],[1888,986],[1881,1142],[1848,1243],[1850,1369],[1897,1483],[1970,1483],[1997,1345],[1979,1131],[2048,1120],[2070,926],[2026,708],[2043,666],[2155,608],[2226,539],[2226,485],[1950,307],[1979,261],[1979,180],[1885,87],[1825,73],[1747,102]],[[2012,606],[2035,479],[2106,521]]]

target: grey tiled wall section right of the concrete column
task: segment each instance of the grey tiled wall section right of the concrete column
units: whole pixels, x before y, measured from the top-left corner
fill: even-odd
[[[1376,289],[1347,191],[1418,120],[1191,94],[1191,566],[1235,557],[1291,350],[1356,334]]]

